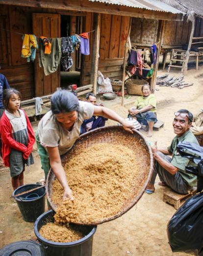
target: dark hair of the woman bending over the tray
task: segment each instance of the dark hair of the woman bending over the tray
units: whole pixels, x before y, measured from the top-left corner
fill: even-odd
[[[51,96],[51,111],[53,114],[78,111],[79,102],[72,92],[68,90],[56,91]]]

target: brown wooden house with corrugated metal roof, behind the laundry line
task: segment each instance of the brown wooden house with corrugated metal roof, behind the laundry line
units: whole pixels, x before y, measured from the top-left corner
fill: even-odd
[[[125,45],[131,17],[158,20],[160,37],[163,20],[181,21],[183,13],[153,0],[0,0],[0,66],[11,86],[23,99],[53,93],[60,87],[61,68],[45,76],[34,63],[21,57],[22,34],[62,37],[89,32],[90,55],[73,54],[69,72],[79,72],[83,93],[96,91],[97,71],[104,77],[123,77]],[[167,14],[167,15],[166,15]],[[155,76],[155,75],[154,75]],[[68,82],[68,81],[67,81]]]

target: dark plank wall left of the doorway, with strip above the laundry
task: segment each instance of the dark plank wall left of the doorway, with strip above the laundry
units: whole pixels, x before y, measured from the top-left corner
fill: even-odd
[[[7,77],[10,86],[21,91],[23,100],[35,96],[34,66],[21,57],[22,35],[3,29],[32,33],[32,13],[86,15],[77,11],[0,4],[0,73]]]

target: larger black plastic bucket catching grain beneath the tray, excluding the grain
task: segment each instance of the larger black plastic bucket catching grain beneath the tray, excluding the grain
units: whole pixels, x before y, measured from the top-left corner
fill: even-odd
[[[41,243],[41,252],[43,256],[91,256],[93,235],[97,226],[85,226],[89,233],[79,240],[70,243],[58,243],[45,239],[39,233],[40,228],[48,222],[54,221],[55,212],[49,210],[43,213],[34,224],[34,232]]]

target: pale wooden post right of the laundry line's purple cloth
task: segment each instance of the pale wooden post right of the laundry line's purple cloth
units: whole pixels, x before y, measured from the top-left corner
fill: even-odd
[[[98,66],[99,66],[99,57],[100,57],[100,33],[101,33],[101,14],[96,14],[96,31],[95,31],[95,54],[93,55],[92,60],[92,72],[94,71],[93,77],[93,93],[96,95],[97,93],[97,76],[98,76]],[[91,73],[92,73],[91,72]]]

